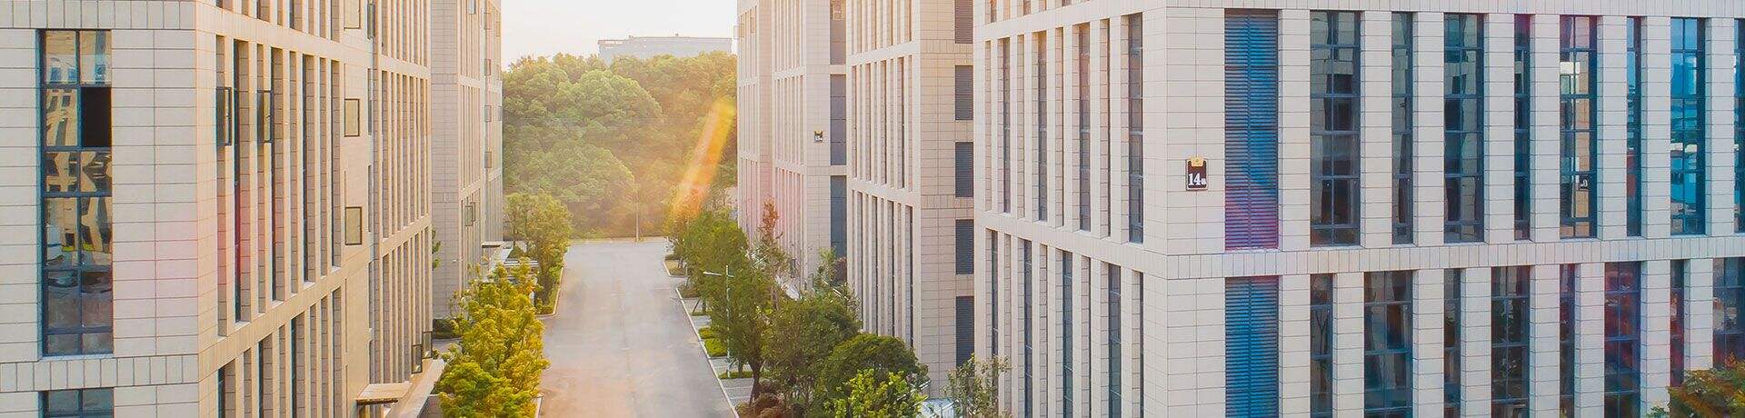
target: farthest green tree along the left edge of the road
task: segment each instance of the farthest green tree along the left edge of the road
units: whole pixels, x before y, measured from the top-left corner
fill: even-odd
[[[558,279],[564,272],[564,254],[569,253],[569,237],[574,233],[569,221],[569,209],[564,209],[551,195],[508,195],[508,235],[517,240],[522,254],[539,261],[537,294],[539,307],[551,307],[557,294]]]

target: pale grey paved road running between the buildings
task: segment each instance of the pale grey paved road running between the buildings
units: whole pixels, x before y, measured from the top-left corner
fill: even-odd
[[[578,242],[546,319],[543,416],[733,416],[661,266],[665,240]]]

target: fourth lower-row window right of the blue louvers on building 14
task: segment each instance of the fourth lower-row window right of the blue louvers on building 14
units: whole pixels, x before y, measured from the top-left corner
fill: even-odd
[[[1490,270],[1490,416],[1527,416],[1527,282],[1532,266]]]

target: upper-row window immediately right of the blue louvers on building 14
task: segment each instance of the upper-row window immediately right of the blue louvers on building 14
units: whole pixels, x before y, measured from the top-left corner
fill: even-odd
[[[1358,244],[1358,12],[1310,12],[1312,246]]]

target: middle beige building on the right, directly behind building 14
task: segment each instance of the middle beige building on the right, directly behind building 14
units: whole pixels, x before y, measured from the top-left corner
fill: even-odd
[[[866,329],[907,341],[941,383],[975,347],[970,5],[845,10],[848,282]]]

